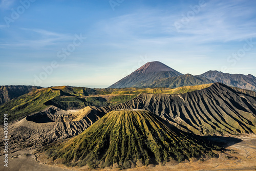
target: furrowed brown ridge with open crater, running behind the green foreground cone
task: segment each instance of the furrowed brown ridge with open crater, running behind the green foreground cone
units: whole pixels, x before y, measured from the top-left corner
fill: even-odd
[[[127,92],[131,94],[130,90]],[[172,92],[155,88],[148,93],[139,92],[135,98],[120,104],[105,107],[87,106],[79,111],[48,106],[48,109],[31,114],[20,121],[10,122],[10,148],[18,147],[20,143],[22,146],[40,146],[75,136],[106,113],[120,109],[150,111],[182,131],[199,135],[256,134],[255,104],[254,91],[212,83],[181,87]]]

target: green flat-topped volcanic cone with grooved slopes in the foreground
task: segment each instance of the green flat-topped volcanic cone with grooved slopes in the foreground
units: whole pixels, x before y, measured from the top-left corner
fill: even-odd
[[[209,144],[208,144],[209,145]],[[169,157],[178,161],[200,157],[211,148],[144,110],[112,111],[86,131],[66,143],[51,145],[46,154],[56,163],[91,168],[130,168],[132,164],[165,163]]]

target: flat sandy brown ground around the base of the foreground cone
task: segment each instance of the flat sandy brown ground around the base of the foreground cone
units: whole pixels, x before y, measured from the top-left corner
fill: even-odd
[[[129,171],[137,170],[256,170],[256,135],[248,135],[243,137],[236,137],[241,139],[240,142],[234,142],[232,139],[225,137],[212,137],[212,140],[223,141],[226,143],[225,153],[219,153],[219,158],[212,158],[207,161],[183,162],[177,165],[173,163],[166,163],[164,166],[156,165],[148,168],[146,166],[127,169]],[[33,150],[25,150],[9,154],[8,167],[4,166],[4,156],[0,156],[0,170],[11,171],[59,171],[59,170],[92,170],[84,167],[65,167],[63,165],[46,165],[42,162],[37,162],[37,157],[32,155]],[[28,156],[18,156],[17,158],[10,158],[17,154],[30,154]],[[39,156],[40,158],[40,156]],[[96,170],[118,170],[115,169],[96,169]]]

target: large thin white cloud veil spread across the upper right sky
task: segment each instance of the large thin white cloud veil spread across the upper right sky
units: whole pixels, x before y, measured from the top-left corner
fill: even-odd
[[[191,9],[188,8],[187,11],[189,10]],[[101,27],[97,31],[105,33],[113,40],[121,37],[123,40],[147,39],[149,42],[175,41],[193,44],[241,40],[256,36],[256,23],[248,23],[253,10],[249,5],[211,1],[178,31],[174,23],[181,23],[182,14],[186,15],[186,10],[180,12],[179,16],[177,13],[144,9],[101,21],[98,23]]]

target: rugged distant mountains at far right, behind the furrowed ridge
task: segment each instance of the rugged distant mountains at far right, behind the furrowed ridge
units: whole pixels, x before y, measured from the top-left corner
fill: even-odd
[[[215,82],[222,82],[227,86],[256,91],[256,77],[250,74],[228,74],[219,71],[207,71],[197,76],[211,79]]]

